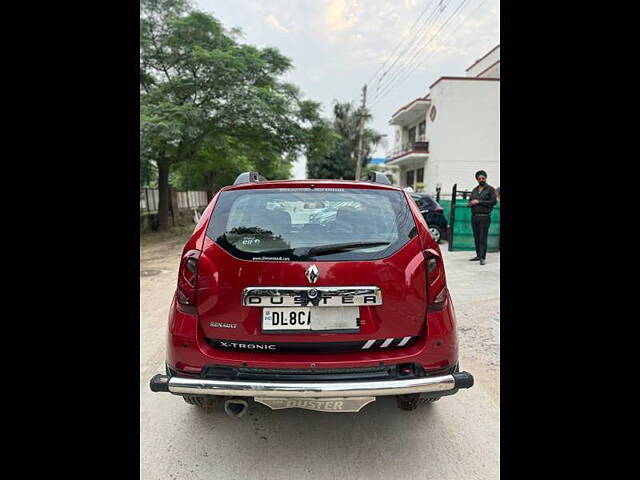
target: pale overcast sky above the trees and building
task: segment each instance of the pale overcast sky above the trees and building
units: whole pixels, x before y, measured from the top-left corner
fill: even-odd
[[[226,28],[239,27],[244,43],[276,47],[288,56],[293,69],[286,80],[306,98],[321,102],[327,118],[334,100],[360,102],[362,86],[378,72],[368,84],[368,98],[374,99],[370,126],[387,134],[389,145],[380,146],[374,157],[384,157],[392,146],[388,122],[393,112],[426,95],[439,77],[464,76],[466,68],[500,43],[499,0],[195,3]],[[304,178],[304,168],[303,162],[296,164],[293,177]]]

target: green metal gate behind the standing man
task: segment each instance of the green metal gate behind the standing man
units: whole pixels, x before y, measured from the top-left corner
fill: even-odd
[[[471,207],[467,205],[470,191],[458,190],[458,184],[451,191],[449,206],[449,251],[475,251],[473,229],[471,227]],[[458,202],[458,200],[462,200]],[[500,250],[500,202],[491,212],[491,225],[487,239],[487,252]]]

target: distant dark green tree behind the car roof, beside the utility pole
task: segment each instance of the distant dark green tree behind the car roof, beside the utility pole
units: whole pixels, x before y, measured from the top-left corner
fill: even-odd
[[[364,115],[365,124],[371,120],[367,110],[354,107],[351,102],[335,102],[333,107],[333,131],[335,141],[324,155],[307,158],[309,178],[355,178],[356,155],[358,149],[359,122]],[[327,139],[327,135],[324,136]],[[371,153],[382,136],[371,128],[364,129],[362,166],[371,159]]]

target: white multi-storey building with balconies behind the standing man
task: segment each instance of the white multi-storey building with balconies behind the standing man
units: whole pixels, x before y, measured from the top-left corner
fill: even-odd
[[[500,185],[500,45],[466,70],[465,77],[441,77],[429,93],[397,110],[394,149],[387,165],[398,167],[400,186],[441,196],[470,190],[474,174]],[[422,188],[421,185],[424,186]]]

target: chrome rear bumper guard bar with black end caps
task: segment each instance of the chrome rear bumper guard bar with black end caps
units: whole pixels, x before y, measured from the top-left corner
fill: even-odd
[[[467,372],[404,380],[360,382],[257,382],[207,380],[156,375],[150,387],[154,392],[176,395],[221,395],[230,397],[335,398],[378,397],[414,393],[452,394],[473,386]]]

